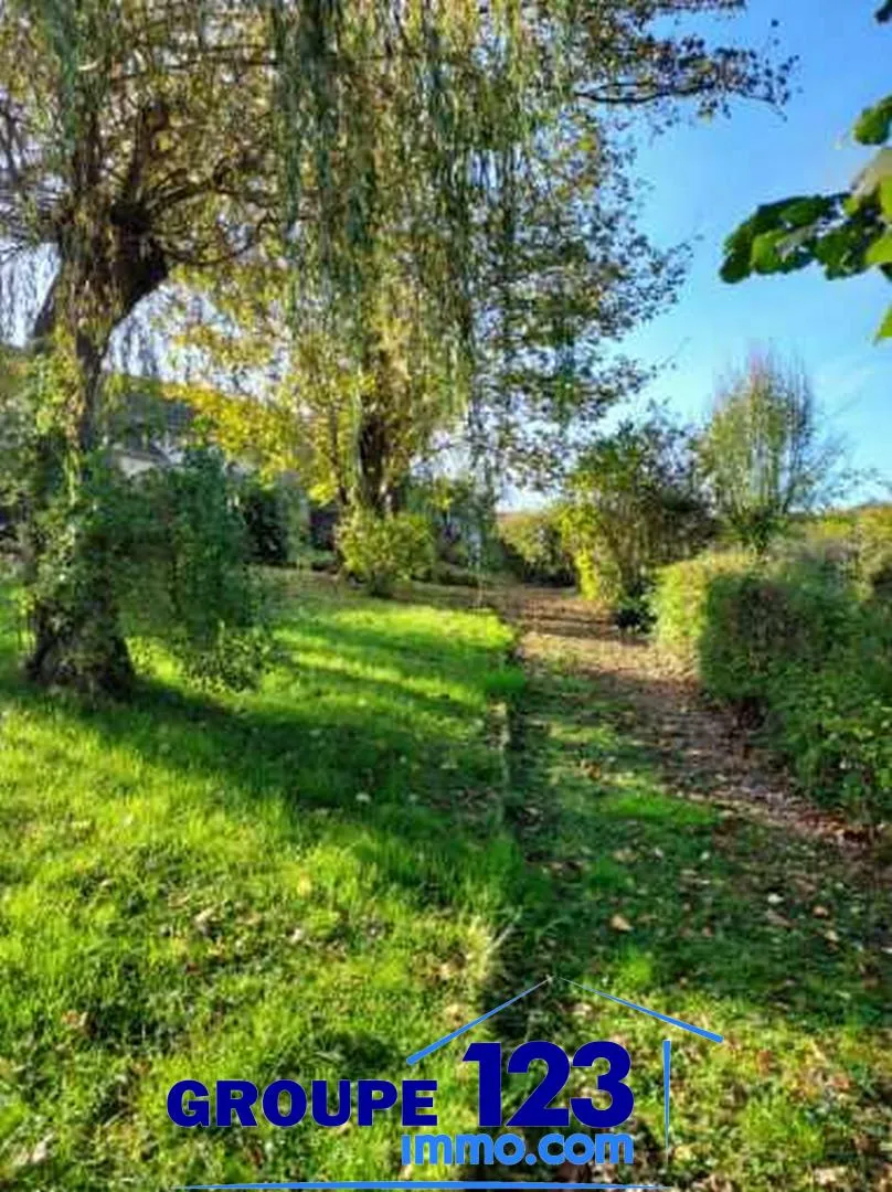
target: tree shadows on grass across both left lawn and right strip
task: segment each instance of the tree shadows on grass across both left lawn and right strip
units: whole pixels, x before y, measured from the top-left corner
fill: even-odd
[[[383,887],[402,887],[420,906],[448,906],[436,874],[466,871],[472,884],[482,851],[507,842],[516,864],[490,870],[502,887],[485,892],[502,925],[514,924],[493,1004],[545,975],[591,979],[638,956],[650,987],[668,995],[770,1001],[813,1025],[880,1023],[887,900],[832,846],[677,796],[626,735],[621,707],[594,691],[581,700],[578,679],[557,670],[533,679],[515,716],[522,735],[506,796],[479,727],[467,732],[450,701],[411,688],[438,659],[439,676],[460,682],[484,647],[475,654],[417,631],[382,640],[336,615],[311,637],[333,657],[391,673],[302,666],[298,650],[285,666],[305,684],[297,704],[287,685],[280,702],[273,688],[265,701],[234,703],[143,683],[130,707],[66,702],[55,714],[135,749],[174,781],[212,778],[216,806],[233,814],[280,805],[304,842],[306,812],[327,811],[318,831],[342,831]],[[8,672],[5,695],[33,708],[44,699]],[[556,1007],[572,1000],[558,986],[543,997]],[[522,1031],[525,1022],[519,1006],[503,1025]]]

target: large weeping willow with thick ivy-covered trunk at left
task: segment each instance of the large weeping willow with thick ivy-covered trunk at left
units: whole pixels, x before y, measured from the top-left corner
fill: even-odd
[[[611,112],[782,98],[783,73],[752,51],[656,31],[741,7],[4,0],[0,234],[11,252],[49,244],[56,260],[32,329],[31,675],[100,689],[129,678],[112,560],[83,511],[101,501],[109,344],[153,292],[275,236],[295,331],[322,310],[373,371],[368,296],[397,261],[467,378],[482,322],[495,322],[483,262],[498,234],[510,291],[524,180],[550,130],[575,130],[568,151],[584,155]]]

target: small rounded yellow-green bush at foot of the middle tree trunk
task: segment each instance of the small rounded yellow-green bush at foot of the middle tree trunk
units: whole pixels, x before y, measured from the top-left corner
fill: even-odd
[[[340,523],[337,545],[347,575],[374,596],[390,596],[398,579],[427,579],[435,563],[430,524],[420,514],[355,509]]]

